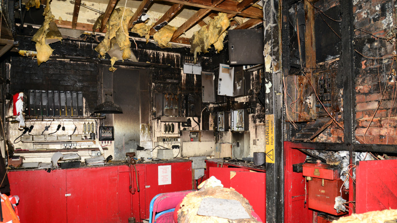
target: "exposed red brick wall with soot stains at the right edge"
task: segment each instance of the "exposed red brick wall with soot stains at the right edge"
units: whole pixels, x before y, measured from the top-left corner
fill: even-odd
[[[384,37],[395,25],[393,8],[396,7],[392,0],[354,0],[353,4],[356,27]],[[393,44],[356,29],[355,50],[378,58],[393,54]],[[392,59],[370,60],[355,54],[356,135],[364,139],[365,133],[368,144],[397,144],[397,102],[393,94],[397,86],[392,63],[395,69]]]

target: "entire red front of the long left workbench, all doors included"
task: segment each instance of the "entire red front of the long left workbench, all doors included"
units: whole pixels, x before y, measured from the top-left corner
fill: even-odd
[[[170,168],[166,184],[159,183],[160,166]],[[167,167],[169,166],[169,167]],[[191,160],[173,159],[137,163],[139,192],[134,167],[125,162],[73,169],[13,169],[8,172],[11,195],[24,223],[127,223],[149,217],[149,204],[159,193],[191,190]],[[164,178],[164,176],[163,176]],[[163,182],[164,183],[164,182]],[[160,184],[160,185],[159,185]]]

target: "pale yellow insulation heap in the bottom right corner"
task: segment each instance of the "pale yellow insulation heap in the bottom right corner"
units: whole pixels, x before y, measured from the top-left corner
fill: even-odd
[[[369,211],[362,214],[353,213],[347,217],[341,217],[332,223],[387,223],[397,219],[397,210]]]

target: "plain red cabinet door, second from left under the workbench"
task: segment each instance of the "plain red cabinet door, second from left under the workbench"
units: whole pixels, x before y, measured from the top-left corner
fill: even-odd
[[[66,182],[67,222],[119,222],[117,166],[68,169]]]

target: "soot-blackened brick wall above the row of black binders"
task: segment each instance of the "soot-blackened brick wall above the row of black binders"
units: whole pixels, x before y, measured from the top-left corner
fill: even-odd
[[[98,64],[48,60],[37,65],[37,60],[11,58],[10,92],[14,90],[70,90],[82,91],[86,113],[97,104]]]

